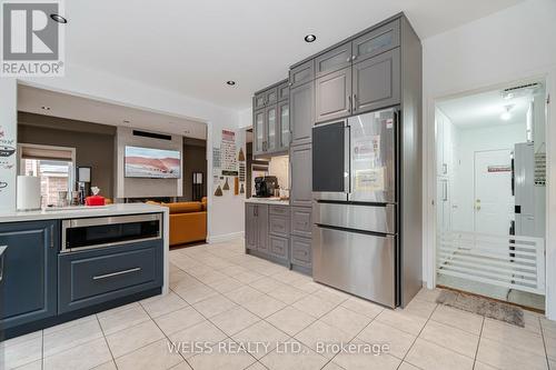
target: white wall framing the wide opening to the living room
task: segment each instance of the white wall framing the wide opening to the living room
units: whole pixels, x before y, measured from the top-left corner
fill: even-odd
[[[239,114],[237,111],[71,63],[66,66],[64,78],[23,79],[22,82],[38,88],[207,122],[209,240],[221,240],[226,237],[241,234],[244,231],[244,197],[214,197],[212,181],[210,181],[212,144],[220,141],[221,130],[236,131],[236,134],[240,139],[242,138],[242,133],[238,130]],[[16,93],[16,89],[13,89],[10,91],[9,98],[14,99]],[[4,102],[2,101],[2,111],[3,108]],[[16,118],[12,121],[14,124]]]

